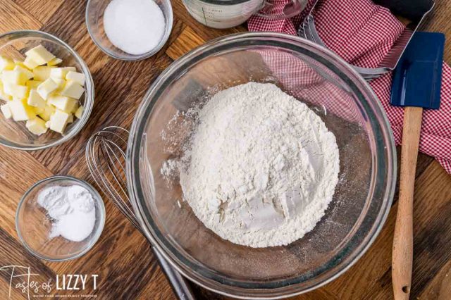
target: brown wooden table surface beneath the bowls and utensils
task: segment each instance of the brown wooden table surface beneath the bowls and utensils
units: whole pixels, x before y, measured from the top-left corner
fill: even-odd
[[[438,0],[427,30],[445,32],[451,39],[451,1]],[[15,228],[20,196],[37,180],[51,175],[73,175],[92,182],[85,163],[85,144],[106,125],[130,127],[147,87],[174,59],[209,39],[245,27],[213,30],[188,15],[181,0],[172,1],[174,23],[165,48],[137,62],[114,60],[89,38],[85,26],[86,2],[81,0],[1,0],[0,32],[32,29],[49,32],[73,46],[85,59],[95,85],[95,104],[89,123],[74,139],[44,151],[17,151],[0,147],[0,267],[29,266],[39,280],[63,274],[97,274],[97,289],[56,291],[50,294],[92,294],[98,299],[174,299],[149,244],[128,220],[106,202],[106,225],[99,242],[74,261],[41,261],[23,248]],[[451,62],[451,42],[445,60]],[[399,149],[398,149],[399,151]],[[57,159],[55,159],[55,157]],[[93,183],[93,182],[92,182]],[[395,202],[371,249],[344,275],[296,299],[391,299],[391,246]],[[106,199],[106,197],[105,197]],[[451,299],[451,176],[433,158],[420,154],[414,200],[414,274],[412,299]],[[8,299],[10,274],[0,270],[0,299]],[[14,280],[17,280],[14,278]],[[223,297],[194,287],[199,299]],[[26,294],[11,289],[11,299]]]

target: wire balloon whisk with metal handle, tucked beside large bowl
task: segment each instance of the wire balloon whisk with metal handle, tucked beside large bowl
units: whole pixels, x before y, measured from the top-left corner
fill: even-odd
[[[110,197],[119,211],[146,237],[135,217],[128,197],[125,179],[127,141],[128,130],[118,126],[105,127],[89,138],[85,156],[89,173],[101,191]],[[152,246],[152,250],[178,299],[194,300],[185,278],[163,258],[159,249]]]

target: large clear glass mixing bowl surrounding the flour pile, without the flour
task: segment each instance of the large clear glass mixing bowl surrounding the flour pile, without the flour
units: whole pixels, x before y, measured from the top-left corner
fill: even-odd
[[[333,201],[314,230],[288,246],[253,249],[221,239],[183,201],[178,179],[161,175],[195,121],[183,112],[249,81],[272,82],[309,105],[338,142]],[[154,82],[132,124],[127,175],[147,237],[183,275],[220,294],[276,299],[330,282],[364,254],[390,209],[395,160],[381,104],[345,61],[298,37],[248,32],[194,49]]]

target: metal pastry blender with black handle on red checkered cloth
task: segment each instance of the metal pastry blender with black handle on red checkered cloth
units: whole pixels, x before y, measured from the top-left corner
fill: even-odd
[[[402,53],[409,44],[412,35],[418,30],[419,25],[424,21],[426,15],[433,10],[435,2],[433,0],[411,0],[411,1],[393,1],[393,0],[373,0],[374,3],[389,8],[390,11],[399,15],[400,17],[409,20],[409,24],[400,37],[393,44],[388,54],[383,58],[378,68],[362,68],[357,65],[352,67],[357,70],[365,80],[371,81],[390,70],[396,68],[397,63],[400,61]],[[309,39],[311,42],[315,42],[323,47],[326,47],[321,37],[319,37],[318,31],[314,22],[314,10],[319,0],[311,7],[309,15],[304,19],[304,22],[299,26],[298,34],[304,39]],[[408,2],[408,3],[407,3]]]

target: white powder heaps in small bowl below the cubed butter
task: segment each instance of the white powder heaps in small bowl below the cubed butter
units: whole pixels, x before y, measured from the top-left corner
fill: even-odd
[[[85,187],[46,187],[37,195],[37,204],[54,220],[49,238],[61,235],[70,241],[81,242],[94,230],[94,198]]]

